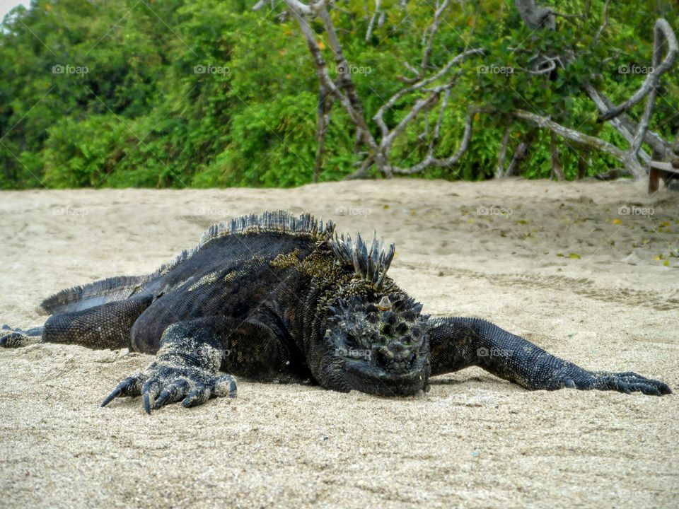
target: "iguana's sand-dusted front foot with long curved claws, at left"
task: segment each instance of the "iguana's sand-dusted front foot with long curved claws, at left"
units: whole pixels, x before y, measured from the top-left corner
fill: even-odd
[[[106,406],[119,396],[139,396],[146,414],[164,404],[182,401],[182,406],[197,406],[213,397],[236,397],[236,379],[231,375],[212,375],[198,367],[151,363],[142,373],[125,378],[102,402]]]

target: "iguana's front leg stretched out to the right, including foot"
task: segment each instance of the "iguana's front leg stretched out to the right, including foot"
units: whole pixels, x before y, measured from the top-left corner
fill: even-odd
[[[477,365],[530,390],[616,390],[671,394],[670,387],[637,373],[588,371],[553,356],[522,337],[477,318],[430,320],[431,375]]]

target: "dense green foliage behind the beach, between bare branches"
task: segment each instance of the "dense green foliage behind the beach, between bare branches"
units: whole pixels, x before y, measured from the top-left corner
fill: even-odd
[[[559,17],[555,32],[536,33],[521,22],[513,2],[452,2],[429,72],[470,47],[482,47],[486,54],[460,66],[436,156],[457,150],[470,107],[484,105],[499,113],[477,115],[468,152],[458,164],[422,176],[492,177],[510,118],[505,114],[518,108],[626,146],[613,129],[596,122],[596,109],[582,87],[593,79],[615,102],[629,97],[645,76],[619,69],[648,66],[656,18],[665,16],[677,28],[679,13],[671,1],[611,3],[608,28],[595,40],[604,0],[555,5],[560,12],[579,14],[590,3],[588,21]],[[280,6],[253,12],[253,4],[33,0],[28,10],[16,8],[0,30],[0,188],[311,182],[317,147],[315,68],[296,21],[279,17]],[[373,4],[347,0],[337,6],[332,18],[355,66],[352,78],[366,118],[379,136],[371,119],[404,86],[399,76],[412,76],[404,63],[419,64],[434,8],[410,0],[403,10],[396,0],[383,1],[385,21],[375,25],[366,42]],[[334,62],[322,27],[313,27],[326,62]],[[533,76],[521,69],[537,52],[575,57],[552,76]],[[651,122],[666,139],[679,129],[676,78],[674,71],[661,80]],[[386,112],[385,122],[395,126],[422,97],[402,98]],[[637,105],[632,116],[642,109]],[[436,112],[418,117],[395,141],[393,164],[407,167],[426,156]],[[530,129],[511,124],[510,156]],[[535,140],[525,175],[548,177],[550,136],[540,132]],[[361,156],[354,154],[354,141],[352,123],[335,104],[321,180],[338,180],[355,169]],[[581,147],[564,140],[558,144],[564,171],[574,178]],[[589,175],[617,165],[596,152],[591,160]]]

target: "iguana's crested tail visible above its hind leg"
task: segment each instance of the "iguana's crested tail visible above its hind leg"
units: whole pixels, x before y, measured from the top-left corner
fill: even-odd
[[[116,276],[54,293],[40,303],[39,312],[55,315],[93,308],[139,293],[151,276]]]

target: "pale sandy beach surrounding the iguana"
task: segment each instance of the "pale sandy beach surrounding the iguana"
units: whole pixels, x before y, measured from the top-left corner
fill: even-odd
[[[414,179],[2,192],[0,324],[40,325],[55,291],[151,272],[210,224],[269,209],[395,242],[390,275],[424,312],[675,394],[528,392],[472,368],[397,399],[239,380],[237,399],[147,416],[139,398],[99,404],[151,356],[0,349],[1,507],[676,507],[678,194]]]

